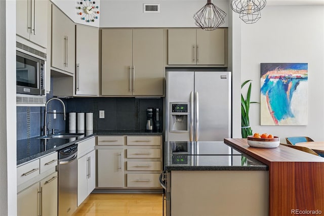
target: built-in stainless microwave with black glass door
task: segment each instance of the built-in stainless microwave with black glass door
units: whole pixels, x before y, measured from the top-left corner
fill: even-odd
[[[46,95],[45,61],[16,51],[17,94]]]

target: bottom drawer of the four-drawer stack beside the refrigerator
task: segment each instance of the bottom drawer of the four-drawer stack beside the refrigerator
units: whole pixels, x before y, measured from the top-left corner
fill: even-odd
[[[160,187],[159,174],[127,174],[127,187]]]

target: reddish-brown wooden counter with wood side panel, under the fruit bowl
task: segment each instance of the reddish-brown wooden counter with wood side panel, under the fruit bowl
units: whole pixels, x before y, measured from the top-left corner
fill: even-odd
[[[224,142],[269,168],[269,215],[324,215],[324,158],[287,146],[254,148],[247,139]]]

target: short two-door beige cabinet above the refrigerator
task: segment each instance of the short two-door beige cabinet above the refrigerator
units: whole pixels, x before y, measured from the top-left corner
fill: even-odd
[[[204,31],[196,28],[168,30],[169,65],[227,64],[227,29]]]

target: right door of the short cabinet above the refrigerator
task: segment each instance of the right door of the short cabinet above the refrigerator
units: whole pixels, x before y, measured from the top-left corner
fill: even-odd
[[[213,31],[197,29],[197,64],[225,64],[225,29]]]

